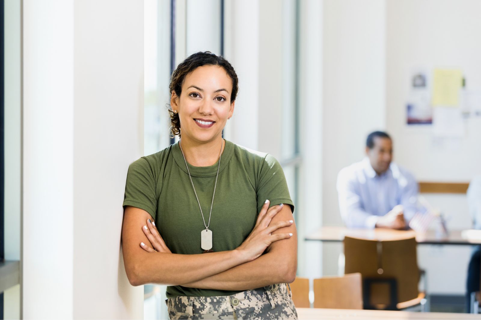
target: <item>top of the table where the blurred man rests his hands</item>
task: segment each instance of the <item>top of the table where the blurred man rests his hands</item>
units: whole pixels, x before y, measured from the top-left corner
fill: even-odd
[[[417,233],[413,230],[391,230],[376,228],[348,229],[345,227],[324,226],[309,234],[305,240],[340,242],[344,236],[364,238],[371,240],[396,240],[416,237],[419,244],[443,244],[443,245],[477,245],[481,244],[481,238],[465,238],[461,235],[461,230],[452,230],[447,237],[439,237],[436,232],[428,230],[425,233]]]

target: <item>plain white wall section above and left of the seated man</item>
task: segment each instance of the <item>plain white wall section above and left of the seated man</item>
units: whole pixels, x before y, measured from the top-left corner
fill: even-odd
[[[385,10],[383,0],[324,0],[323,225],[342,225],[337,174],[362,159],[370,131],[385,128]],[[324,275],[337,274],[341,250],[324,245]]]

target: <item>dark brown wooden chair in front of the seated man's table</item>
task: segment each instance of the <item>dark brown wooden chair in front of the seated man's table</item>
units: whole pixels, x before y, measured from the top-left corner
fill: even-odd
[[[399,310],[421,305],[416,239],[344,238],[345,273],[361,273],[365,309]]]

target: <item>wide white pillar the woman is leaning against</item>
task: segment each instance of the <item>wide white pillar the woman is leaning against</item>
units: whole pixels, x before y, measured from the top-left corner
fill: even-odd
[[[26,319],[142,318],[120,249],[143,152],[142,41],[142,2],[24,0]]]

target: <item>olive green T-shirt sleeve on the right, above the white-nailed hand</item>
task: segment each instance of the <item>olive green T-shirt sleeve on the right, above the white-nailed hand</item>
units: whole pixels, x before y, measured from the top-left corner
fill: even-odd
[[[266,200],[270,201],[271,206],[279,203],[289,204],[294,212],[294,203],[287,188],[284,171],[276,158],[270,154],[263,159],[258,178],[257,212],[261,211]]]

